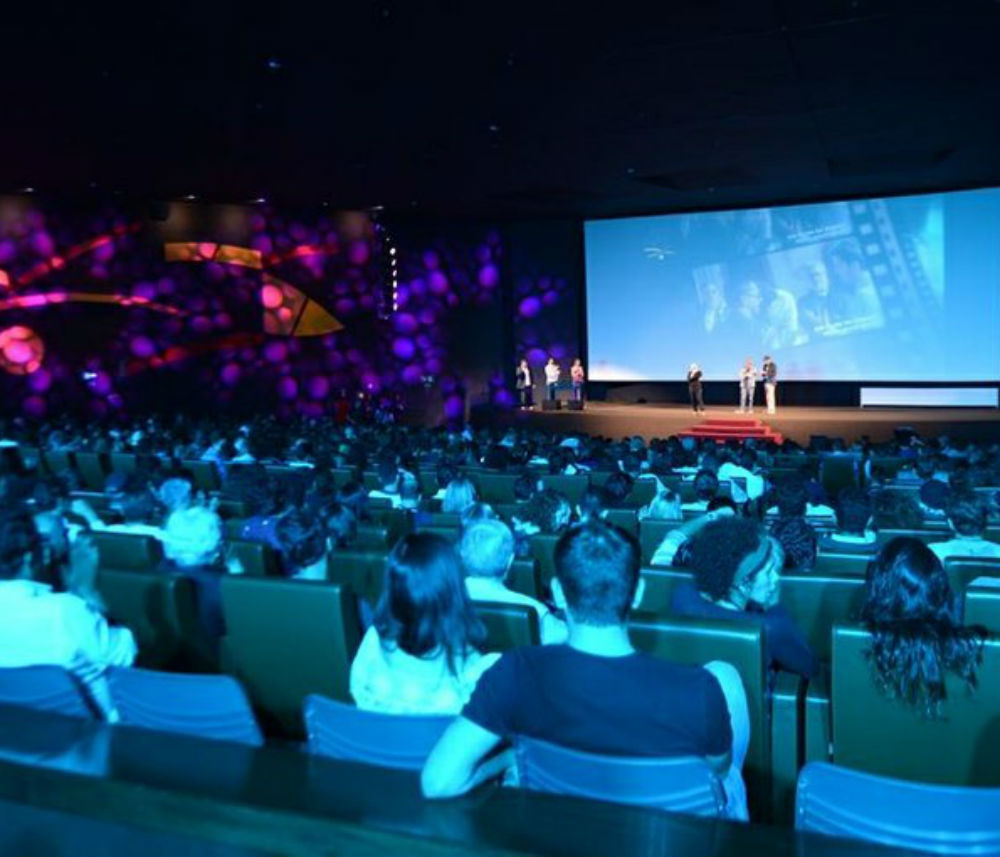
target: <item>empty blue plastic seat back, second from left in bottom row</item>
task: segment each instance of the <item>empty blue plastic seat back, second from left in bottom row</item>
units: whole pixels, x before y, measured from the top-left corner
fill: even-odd
[[[231,676],[115,667],[108,671],[108,687],[127,726],[251,747],[264,743],[243,688]]]

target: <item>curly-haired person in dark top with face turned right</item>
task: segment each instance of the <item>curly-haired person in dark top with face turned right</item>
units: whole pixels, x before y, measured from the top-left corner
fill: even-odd
[[[802,632],[778,603],[784,556],[764,528],[746,518],[723,518],[691,540],[694,584],[681,583],[670,603],[681,616],[749,618],[764,626],[774,669],[811,678],[819,669]]]

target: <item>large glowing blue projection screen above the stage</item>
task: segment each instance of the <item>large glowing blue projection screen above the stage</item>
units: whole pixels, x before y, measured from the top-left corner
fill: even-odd
[[[1000,190],[588,221],[590,377],[990,381]]]

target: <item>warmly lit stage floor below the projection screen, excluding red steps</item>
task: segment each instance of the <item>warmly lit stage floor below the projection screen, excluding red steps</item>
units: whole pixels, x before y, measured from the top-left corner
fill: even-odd
[[[579,431],[620,438],[641,435],[669,437],[687,431],[703,419],[732,419],[732,408],[708,407],[703,417],[689,406],[667,404],[617,404],[587,402],[583,411],[514,411],[498,415],[499,425],[536,426],[552,431]],[[749,416],[749,415],[748,415]],[[763,409],[753,417],[798,443],[808,443],[814,434],[854,441],[868,435],[873,441],[891,440],[893,431],[909,426],[925,437],[947,434],[965,440],[1000,440],[1000,409],[997,408],[835,408],[788,407],[768,415]]]

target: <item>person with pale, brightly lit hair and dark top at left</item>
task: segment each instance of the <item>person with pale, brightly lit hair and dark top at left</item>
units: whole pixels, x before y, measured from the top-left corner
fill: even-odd
[[[174,512],[163,530],[163,570],[190,578],[197,592],[198,623],[213,645],[225,634],[219,580],[227,571],[222,556],[222,522],[202,506]],[[231,563],[231,573],[242,571]]]

